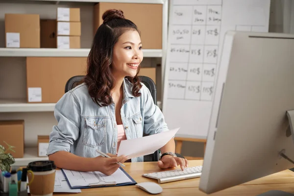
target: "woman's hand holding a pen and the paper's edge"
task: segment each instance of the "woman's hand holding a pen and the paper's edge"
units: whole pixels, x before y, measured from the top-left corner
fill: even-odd
[[[120,168],[120,165],[117,164],[117,162],[121,162],[121,163],[125,162],[127,160],[127,156],[114,155],[114,156],[111,156],[111,158],[98,156],[95,159],[96,159],[95,160],[96,164],[98,164],[98,171],[104,173],[105,175],[111,175]]]

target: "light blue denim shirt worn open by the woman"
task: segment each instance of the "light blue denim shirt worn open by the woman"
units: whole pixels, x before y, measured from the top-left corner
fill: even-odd
[[[147,87],[142,83],[141,96],[132,95],[133,84],[123,81],[121,117],[127,139],[167,131],[164,116],[154,104]],[[82,157],[97,157],[96,149],[116,154],[118,129],[115,104],[100,107],[88,93],[85,83],[63,95],[56,103],[54,116],[58,122],[50,133],[47,155],[64,150]],[[142,157],[131,159],[143,162]]]

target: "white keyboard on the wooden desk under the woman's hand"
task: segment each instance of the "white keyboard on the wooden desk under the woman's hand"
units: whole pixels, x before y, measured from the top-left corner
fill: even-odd
[[[157,179],[158,183],[173,182],[178,180],[186,180],[190,178],[200,177],[202,171],[202,166],[185,168],[184,171],[181,169],[178,170],[169,170],[162,172],[146,173],[142,176]]]

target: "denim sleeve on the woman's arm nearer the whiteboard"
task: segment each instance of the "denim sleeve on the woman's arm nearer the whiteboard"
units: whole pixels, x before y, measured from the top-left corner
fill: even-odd
[[[144,133],[152,135],[163,131],[168,131],[168,125],[165,123],[163,113],[157,105],[154,104],[150,91],[143,85],[145,97],[144,107]]]

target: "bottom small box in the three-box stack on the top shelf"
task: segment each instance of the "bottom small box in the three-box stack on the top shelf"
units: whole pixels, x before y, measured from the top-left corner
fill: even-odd
[[[57,36],[58,49],[80,49],[81,37],[80,36]]]

